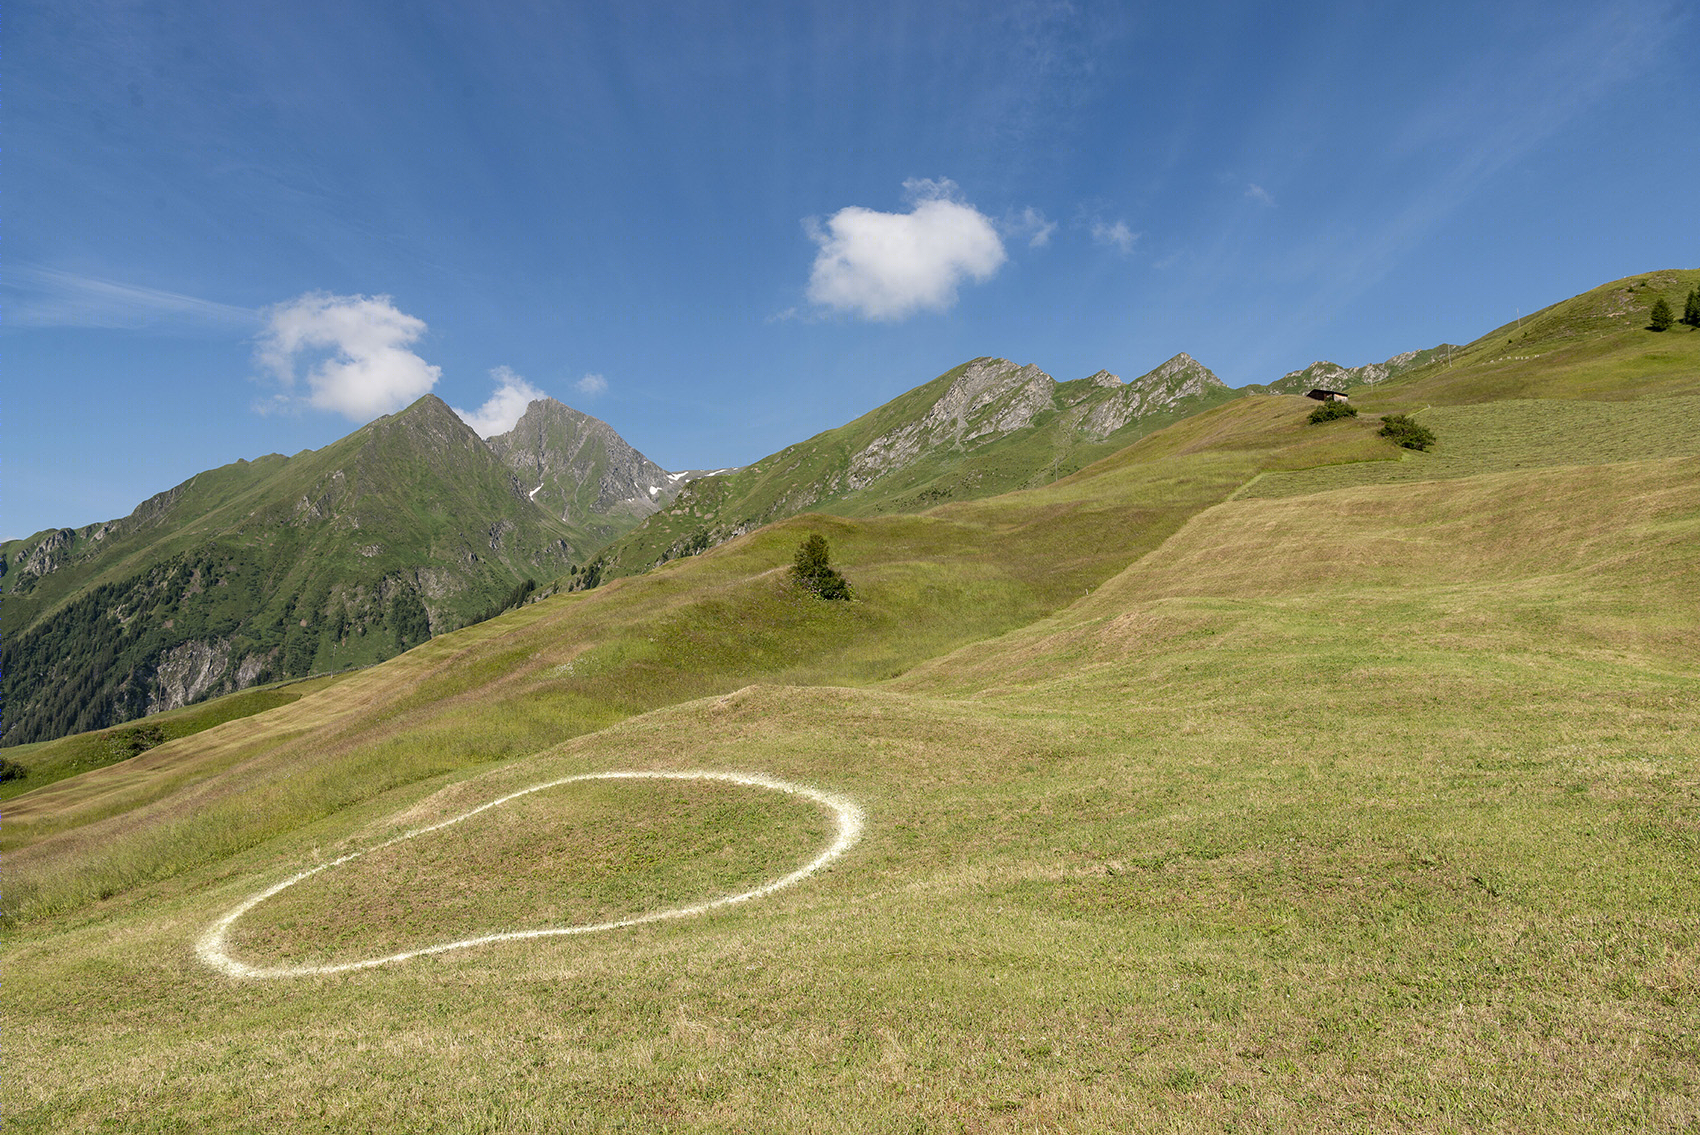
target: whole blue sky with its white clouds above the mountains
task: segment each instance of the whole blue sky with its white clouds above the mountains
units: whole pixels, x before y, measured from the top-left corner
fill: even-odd
[[[3,32],[5,537],[425,389],[714,467],[976,355],[1243,386],[1700,262],[1700,41],[1661,0],[14,0]]]

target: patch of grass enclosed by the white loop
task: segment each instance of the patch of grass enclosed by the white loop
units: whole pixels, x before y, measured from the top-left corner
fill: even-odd
[[[471,809],[500,780],[462,782],[444,795]],[[456,814],[442,804],[415,809],[410,822]],[[760,788],[580,782],[332,867],[252,911],[230,945],[255,965],[338,965],[510,929],[626,919],[784,877],[831,841],[830,829],[819,809]]]

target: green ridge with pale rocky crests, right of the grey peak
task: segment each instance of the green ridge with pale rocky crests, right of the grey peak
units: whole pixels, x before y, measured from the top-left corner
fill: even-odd
[[[1107,370],[1056,382],[1034,365],[974,359],[848,425],[692,481],[604,552],[604,574],[644,571],[802,511],[877,517],[1046,484],[1234,396],[1188,355],[1125,384]]]

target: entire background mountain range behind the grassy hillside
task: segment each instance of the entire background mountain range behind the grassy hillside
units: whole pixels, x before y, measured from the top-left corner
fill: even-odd
[[[668,472],[554,399],[481,440],[425,396],[321,450],[190,477],[0,545],[3,744],[382,661],[551,581],[583,590],[806,511],[913,513],[1066,477],[1246,392],[1375,386],[1457,350],[1229,389],[1187,353],[1122,382],[969,360],[741,469]]]

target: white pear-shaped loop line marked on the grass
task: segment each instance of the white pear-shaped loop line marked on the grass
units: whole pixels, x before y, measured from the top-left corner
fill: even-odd
[[[692,906],[672,907],[666,911],[651,911],[649,914],[638,914],[634,918],[622,918],[612,923],[592,923],[583,926],[549,926],[544,929],[515,929],[500,935],[483,935],[479,938],[462,938],[461,941],[444,941],[434,946],[420,946],[418,950],[403,950],[401,953],[391,953],[381,958],[362,958],[359,962],[342,962],[337,965],[248,965],[246,962],[238,962],[226,951],[226,936],[231,928],[241,919],[243,914],[260,906],[275,894],[294,887],[304,878],[311,878],[320,872],[326,872],[333,867],[357,860],[367,851],[379,851],[391,844],[401,843],[405,839],[413,839],[432,831],[440,831],[461,821],[471,819],[479,812],[488,812],[493,807],[502,807],[508,800],[517,800],[532,792],[542,792],[544,788],[559,788],[561,785],[576,783],[580,780],[719,780],[729,785],[745,785],[748,788],[767,788],[770,792],[785,792],[794,797],[802,797],[813,800],[814,804],[826,809],[838,824],[838,833],[831,844],[813,860],[790,872],[782,878],[775,878],[770,884],[763,884],[755,890],[745,890],[734,895],[724,895],[721,899],[711,899],[707,902],[697,902]],[[563,776],[561,780],[551,780],[542,785],[532,785],[530,788],[520,788],[518,792],[510,792],[500,800],[491,800],[490,804],[481,804],[471,812],[462,812],[452,819],[445,819],[440,824],[432,824],[430,827],[415,827],[413,831],[401,833],[394,839],[386,839],[366,851],[350,851],[348,855],[332,860],[330,863],[320,863],[309,870],[292,875],[280,884],[267,887],[265,890],[243,899],[233,911],[224,914],[219,921],[212,923],[201,941],[196,943],[196,957],[211,965],[212,968],[228,974],[231,977],[314,977],[320,974],[345,974],[348,970],[369,970],[374,965],[389,965],[391,962],[406,962],[408,958],[418,958],[427,953],[447,953],[449,950],[469,950],[473,946],[483,946],[493,941],[518,941],[522,938],[559,938],[566,935],[595,935],[605,929],[622,929],[626,926],[641,926],[643,923],[661,923],[672,918],[690,918],[692,914],[704,914],[722,906],[733,906],[736,902],[750,902],[751,899],[765,899],[767,895],[801,882],[821,870],[840,855],[848,851],[857,839],[862,838],[862,809],[858,809],[852,800],[821,792],[818,788],[809,788],[808,785],[794,785],[785,780],[774,780],[772,776],[760,776],[755,773],[707,773],[707,771],[688,771],[688,773],[666,773],[666,771],[643,771],[643,773],[581,773],[578,776]]]

